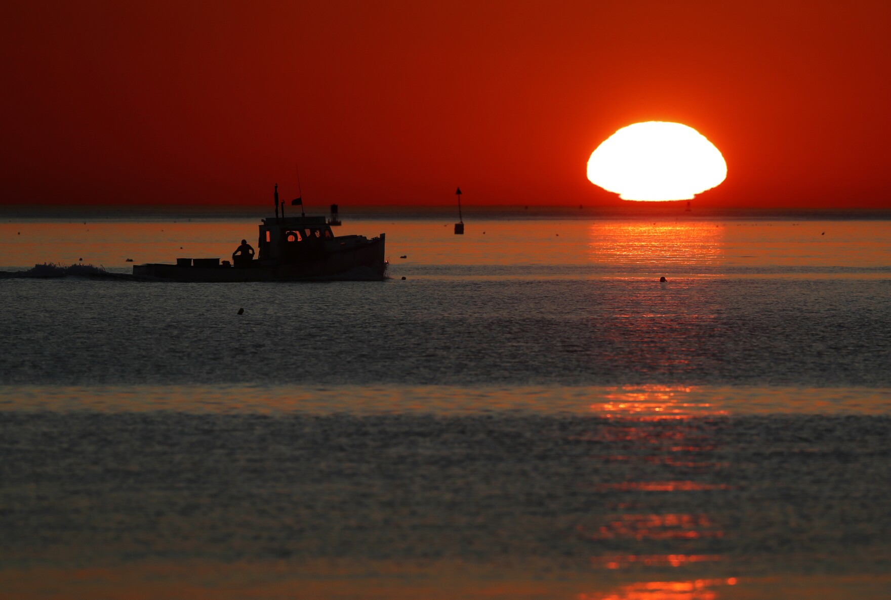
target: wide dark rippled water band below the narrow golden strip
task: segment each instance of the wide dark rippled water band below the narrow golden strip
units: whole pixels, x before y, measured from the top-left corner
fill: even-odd
[[[882,572],[891,418],[0,414],[0,562]],[[634,565],[631,565],[634,568]]]

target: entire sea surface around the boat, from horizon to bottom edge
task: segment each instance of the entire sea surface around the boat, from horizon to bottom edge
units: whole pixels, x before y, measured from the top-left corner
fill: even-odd
[[[382,282],[127,275],[256,224],[0,221],[0,598],[891,595],[891,221],[390,211],[340,228]]]

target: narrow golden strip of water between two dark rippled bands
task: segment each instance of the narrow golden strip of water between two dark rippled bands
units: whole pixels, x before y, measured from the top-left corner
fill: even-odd
[[[603,418],[891,414],[891,390],[718,385],[4,385],[0,409],[257,414],[479,414]]]

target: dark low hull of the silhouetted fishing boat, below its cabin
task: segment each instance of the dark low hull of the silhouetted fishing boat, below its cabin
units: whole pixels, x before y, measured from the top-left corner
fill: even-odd
[[[136,264],[136,277],[154,280],[227,283],[236,281],[380,281],[385,277],[384,239],[291,264],[251,261],[249,266]]]

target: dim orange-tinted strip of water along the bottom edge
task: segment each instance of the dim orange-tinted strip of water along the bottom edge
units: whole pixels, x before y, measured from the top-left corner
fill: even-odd
[[[648,558],[648,557],[643,557]],[[649,557],[659,561],[683,560],[681,555]],[[364,576],[347,576],[348,572]],[[477,566],[462,561],[349,561],[208,564],[200,561],[130,564],[117,569],[60,569],[36,567],[0,571],[0,600],[23,597],[66,600],[155,600],[159,597],[190,600],[340,600],[392,598],[393,600],[763,600],[765,597],[838,600],[847,589],[862,600],[884,600],[883,588],[891,576],[873,575],[850,580],[827,575],[808,577],[707,579],[664,576],[625,580],[621,572],[603,572],[599,578],[550,572],[546,580],[522,572],[492,581]],[[667,575],[667,574],[666,574]],[[134,582],[139,582],[135,587]],[[245,583],[248,581],[248,583]],[[62,591],[64,590],[64,591]],[[373,590],[373,592],[371,591]],[[369,596],[369,594],[373,596]],[[26,594],[27,596],[23,596]]]

